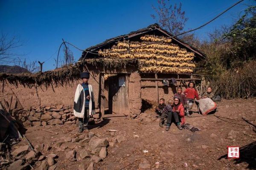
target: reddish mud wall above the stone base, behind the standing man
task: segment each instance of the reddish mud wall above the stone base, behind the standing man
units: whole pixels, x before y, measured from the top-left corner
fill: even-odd
[[[69,108],[73,108],[73,101],[76,92],[76,87],[81,83],[81,79],[77,79],[74,82],[69,82],[67,85],[48,86],[47,88],[42,85],[33,86],[32,88],[24,87],[23,85],[11,85],[9,83],[0,82],[0,102],[5,105],[11,103],[12,96],[12,106],[11,109],[18,107],[28,110],[29,108],[41,108],[42,106],[54,106],[54,105],[64,105]],[[94,99],[96,108],[98,108],[98,98],[99,98],[99,74],[93,73],[90,76],[89,84],[93,86]],[[6,102],[3,101],[6,100]],[[17,106],[18,105],[18,106]]]

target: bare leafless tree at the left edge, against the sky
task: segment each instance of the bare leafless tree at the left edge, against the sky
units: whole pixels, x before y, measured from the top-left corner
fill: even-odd
[[[13,53],[13,49],[21,45],[19,37],[13,36],[9,38],[8,34],[3,34],[2,32],[0,35],[0,64],[16,62],[18,58],[17,54]]]

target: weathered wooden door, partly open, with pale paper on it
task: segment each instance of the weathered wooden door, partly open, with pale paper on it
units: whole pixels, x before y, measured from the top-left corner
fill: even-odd
[[[110,114],[120,116],[129,114],[128,82],[128,76],[125,74],[109,77],[108,108]]]

